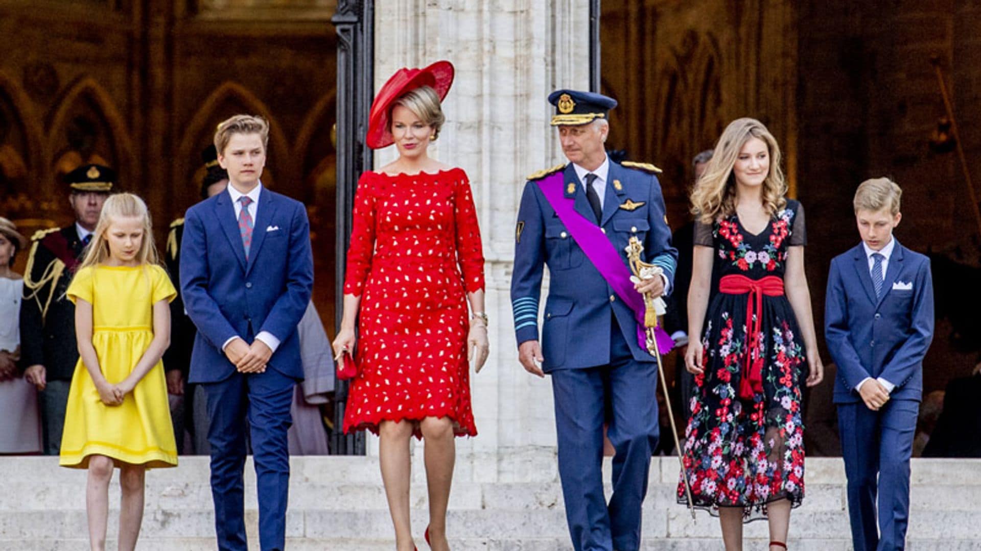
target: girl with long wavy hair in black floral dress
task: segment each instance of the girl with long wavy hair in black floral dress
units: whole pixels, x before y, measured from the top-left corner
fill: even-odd
[[[784,198],[780,149],[752,119],[722,133],[692,193],[696,215],[685,363],[696,375],[685,470],[695,505],[718,514],[727,550],[768,518],[786,549],[803,499],[800,383],[823,367],[803,269],[800,203]],[[679,502],[686,502],[678,488]]]

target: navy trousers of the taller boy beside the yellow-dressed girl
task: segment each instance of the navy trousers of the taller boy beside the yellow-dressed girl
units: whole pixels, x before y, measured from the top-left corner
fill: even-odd
[[[255,460],[259,494],[259,545],[283,551],[289,493],[289,449],[286,431],[296,381],[273,368],[262,374],[235,373],[219,382],[202,383],[208,397],[208,443],[211,445],[211,494],[215,531],[221,551],[246,551],[245,420]]]

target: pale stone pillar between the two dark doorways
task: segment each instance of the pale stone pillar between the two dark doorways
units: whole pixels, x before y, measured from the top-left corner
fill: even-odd
[[[499,472],[495,458],[528,453],[531,460],[555,445],[550,381],[518,364],[509,289],[525,176],[564,161],[546,96],[558,87],[589,88],[589,16],[589,0],[376,2],[376,90],[401,67],[446,59],[456,68],[443,103],[446,125],[430,152],[470,175],[490,315],[490,359],[471,376],[479,435],[457,440],[460,452],[474,452],[475,465],[458,465],[458,476],[521,477]],[[375,166],[396,155],[394,147],[378,152]],[[377,439],[368,448],[377,454]]]

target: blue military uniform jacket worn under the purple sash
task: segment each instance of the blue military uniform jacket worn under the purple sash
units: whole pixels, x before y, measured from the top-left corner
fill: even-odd
[[[582,181],[571,163],[566,165],[563,176],[565,197],[575,201],[576,212],[595,220]],[[624,264],[627,241],[637,236],[644,242],[645,261],[663,268],[668,280],[673,281],[678,251],[671,246],[671,229],[664,215],[657,177],[611,160],[606,182],[600,226],[620,251]],[[569,183],[575,184],[573,192],[569,192]],[[634,210],[620,208],[628,199],[635,205],[643,204]],[[609,363],[610,316],[614,315],[634,359],[655,361],[637,342],[634,313],[599,275],[548,204],[536,180],[525,184],[515,241],[511,303],[518,344],[539,338],[543,266],[548,266],[550,274],[542,327],[543,371]]]

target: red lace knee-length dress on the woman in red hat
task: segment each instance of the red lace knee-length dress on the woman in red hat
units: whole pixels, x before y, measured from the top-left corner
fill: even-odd
[[[344,432],[445,416],[458,436],[477,434],[466,293],[483,288],[466,173],[361,175],[344,277],[344,294],[361,297],[361,373],[351,381]]]

